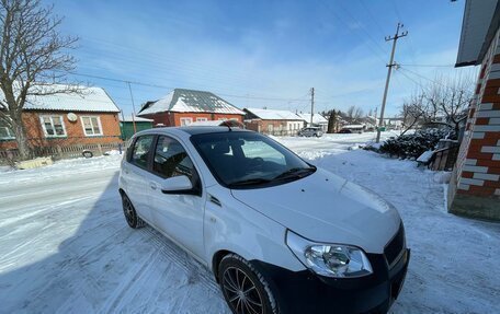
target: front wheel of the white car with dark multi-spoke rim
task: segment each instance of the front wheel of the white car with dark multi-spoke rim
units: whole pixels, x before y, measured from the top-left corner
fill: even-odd
[[[272,289],[248,260],[228,254],[220,260],[218,278],[224,299],[234,314],[277,314]]]

